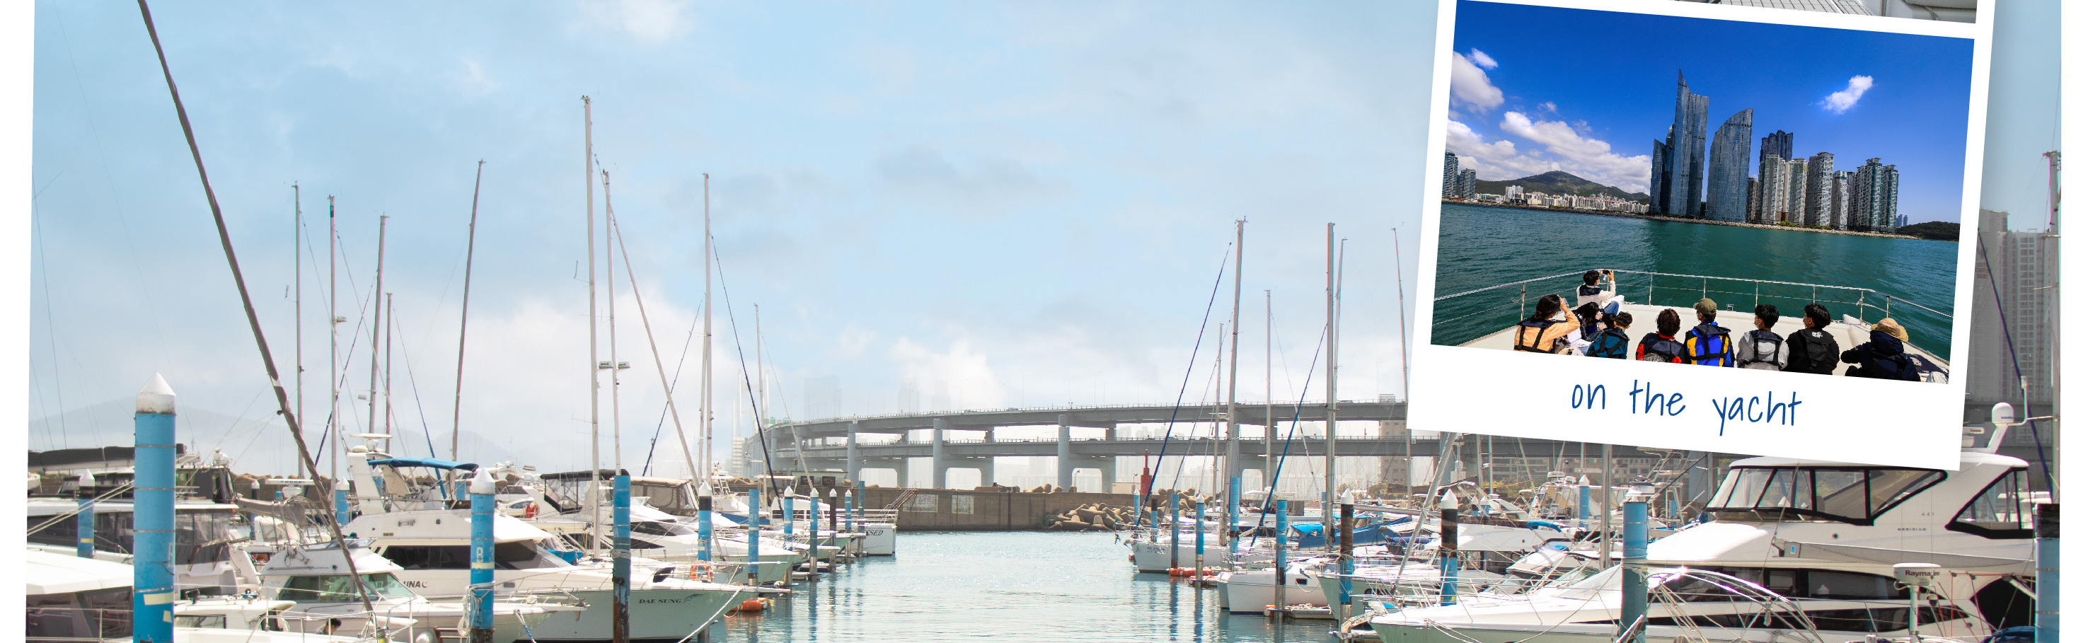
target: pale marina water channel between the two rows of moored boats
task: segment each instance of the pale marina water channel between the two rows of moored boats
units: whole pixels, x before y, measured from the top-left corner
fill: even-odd
[[[1332,641],[1330,620],[1221,616],[1217,589],[1136,574],[1105,532],[902,532],[898,555],[800,582],[714,641]]]

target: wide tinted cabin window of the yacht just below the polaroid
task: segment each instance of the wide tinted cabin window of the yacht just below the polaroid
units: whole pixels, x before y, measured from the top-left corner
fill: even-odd
[[[1873,524],[1877,516],[1942,480],[1944,472],[1938,470],[1733,468],[1708,509],[1739,520]]]

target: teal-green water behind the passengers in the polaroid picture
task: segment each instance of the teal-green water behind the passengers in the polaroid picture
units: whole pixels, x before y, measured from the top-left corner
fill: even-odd
[[[1681,221],[1647,221],[1608,215],[1533,211],[1485,205],[1443,205],[1443,240],[1437,244],[1437,292],[1453,294],[1505,282],[1579,273],[1587,269],[1637,269],[1685,276],[1748,278],[1823,286],[1854,286],[1892,294],[1892,317],[1902,322],[1913,342],[1950,357],[1950,303],[1956,284],[1954,242],[1760,230]],[[1462,344],[1497,332],[1528,315],[1545,292],[1572,301],[1579,276],[1528,284],[1518,305],[1518,288],[1499,288],[1437,301],[1432,342]],[[1766,284],[1618,276],[1620,292],[1633,303],[1672,305],[1689,319],[1704,290],[1718,307],[1754,309],[1775,305],[1798,315],[1808,301],[1827,305],[1840,319],[1856,315],[1877,322],[1885,303],[1877,292]],[[1652,296],[1647,296],[1652,286]],[[1760,299],[1756,299],[1760,292]],[[1904,305],[1936,309],[1927,313]],[[1650,319],[1643,319],[1650,322]],[[1633,326],[1637,326],[1635,322]],[[1647,330],[1652,326],[1647,324]],[[1637,328],[1633,328],[1637,330]]]

